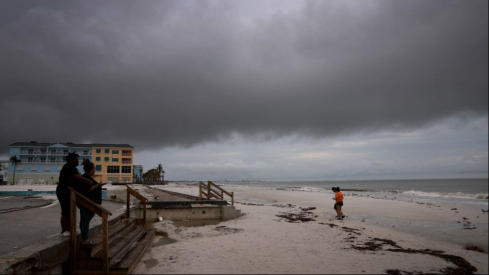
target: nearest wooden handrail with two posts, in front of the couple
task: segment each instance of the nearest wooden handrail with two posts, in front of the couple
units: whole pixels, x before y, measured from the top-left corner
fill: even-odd
[[[109,274],[109,216],[112,216],[112,212],[105,209],[101,205],[96,204],[92,200],[78,193],[76,190],[69,188],[71,203],[71,246],[70,246],[70,269],[71,274],[76,274],[76,257],[77,257],[77,234],[76,234],[76,207],[78,204],[95,213],[95,215],[102,217],[102,262],[103,273]]]

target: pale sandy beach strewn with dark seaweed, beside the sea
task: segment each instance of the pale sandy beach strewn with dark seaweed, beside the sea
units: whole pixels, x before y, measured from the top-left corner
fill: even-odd
[[[160,188],[198,195],[195,185]],[[157,223],[159,237],[135,274],[488,274],[487,254],[460,245],[487,243],[480,211],[345,192],[348,218],[338,221],[332,193],[226,190],[244,216],[199,227]],[[463,241],[447,241],[449,230],[445,240],[432,237],[421,225],[433,222],[450,224]]]

